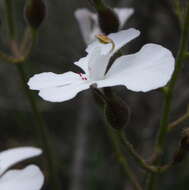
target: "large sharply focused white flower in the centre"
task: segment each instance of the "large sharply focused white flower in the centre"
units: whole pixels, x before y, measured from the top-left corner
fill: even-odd
[[[157,44],[146,44],[135,54],[117,58],[105,73],[112,55],[139,34],[136,29],[129,29],[108,35],[114,42],[113,50],[112,44],[99,40],[90,44],[86,49],[88,55],[75,62],[85,74],[41,73],[30,78],[28,85],[30,89],[39,90],[39,96],[50,102],[69,100],[92,84],[98,88],[124,85],[136,92],[163,87],[171,78],[175,60],[168,49]]]

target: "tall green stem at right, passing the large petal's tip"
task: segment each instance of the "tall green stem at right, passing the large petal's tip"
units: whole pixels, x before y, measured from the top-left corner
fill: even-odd
[[[156,147],[155,147],[155,152],[157,152],[157,155],[158,155],[158,157],[156,159],[157,164],[159,164],[161,162],[160,155],[163,153],[164,148],[165,148],[165,138],[166,138],[166,134],[168,132],[168,122],[169,122],[169,114],[171,111],[173,91],[175,88],[175,84],[176,84],[178,75],[182,68],[182,62],[185,59],[185,52],[187,51],[188,39],[189,39],[189,3],[187,5],[187,9],[186,9],[184,27],[183,27],[182,34],[181,34],[179,51],[178,51],[176,63],[175,63],[175,71],[174,71],[172,79],[168,85],[167,93],[165,94],[165,99],[164,99],[163,116],[162,116],[162,120],[160,123],[160,130],[159,130],[159,133],[157,136],[157,142],[156,142]],[[148,190],[153,190],[155,188],[156,180],[154,180],[154,178],[155,178],[155,176],[150,177],[151,180],[150,180],[149,184],[151,184],[151,185],[147,188]],[[151,182],[152,180],[154,182]]]

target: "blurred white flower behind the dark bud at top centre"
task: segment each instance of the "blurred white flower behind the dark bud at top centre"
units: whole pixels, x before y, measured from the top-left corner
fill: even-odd
[[[120,21],[120,29],[123,28],[129,17],[134,13],[132,8],[114,8]],[[75,11],[75,17],[79,23],[81,34],[86,44],[93,42],[96,34],[102,33],[98,24],[97,14],[82,8]]]

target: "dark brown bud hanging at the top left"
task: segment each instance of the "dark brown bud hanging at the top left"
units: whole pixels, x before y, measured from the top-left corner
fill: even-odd
[[[30,0],[25,6],[24,13],[29,25],[37,29],[46,16],[46,5],[43,0]]]

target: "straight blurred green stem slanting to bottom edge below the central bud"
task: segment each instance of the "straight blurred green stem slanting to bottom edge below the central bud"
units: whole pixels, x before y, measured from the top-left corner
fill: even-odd
[[[112,129],[111,127],[108,128],[108,134],[111,138],[112,145],[114,147],[117,159],[119,163],[123,166],[125,174],[128,176],[130,182],[133,184],[135,190],[142,190],[141,185],[138,183],[138,180],[136,179],[136,176],[132,172],[131,168],[129,167],[128,160],[123,154],[121,150],[121,142],[116,134],[116,131]]]

